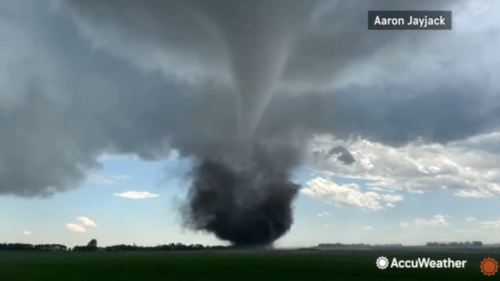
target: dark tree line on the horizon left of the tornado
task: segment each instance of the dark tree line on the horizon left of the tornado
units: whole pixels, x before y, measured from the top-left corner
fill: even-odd
[[[221,250],[228,249],[227,246],[204,246],[201,244],[185,245],[182,243],[170,243],[157,246],[137,246],[137,245],[113,245],[99,247],[97,240],[92,239],[87,245],[75,246],[73,248],[61,244],[26,244],[26,243],[3,243],[0,244],[0,251],[41,251],[41,252],[159,252],[159,251],[190,251],[190,250]]]

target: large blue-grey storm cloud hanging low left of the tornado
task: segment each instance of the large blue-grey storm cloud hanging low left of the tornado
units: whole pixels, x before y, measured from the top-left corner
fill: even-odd
[[[50,195],[99,168],[104,152],[165,158],[234,127],[223,91],[199,95],[144,75],[92,50],[48,6],[14,2],[2,5],[19,17],[0,28],[10,62],[0,66],[0,193]]]

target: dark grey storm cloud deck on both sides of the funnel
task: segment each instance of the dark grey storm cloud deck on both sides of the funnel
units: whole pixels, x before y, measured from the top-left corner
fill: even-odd
[[[71,3],[77,16],[50,10],[49,1],[0,4],[1,194],[39,196],[74,187],[89,169],[99,168],[103,153],[154,160],[167,157],[170,149],[185,155],[225,150],[221,143],[235,133],[236,109],[227,47],[214,27],[205,28],[206,21],[179,1],[58,2]],[[282,92],[305,94],[274,96],[261,137],[334,133],[398,145],[418,137],[449,141],[495,128],[498,98],[490,92],[498,85],[467,69],[487,63],[495,69],[498,60],[474,54],[498,49],[498,33],[375,34],[365,28],[368,9],[431,9],[448,2],[331,3],[324,5],[340,8],[316,10],[294,37],[279,85]],[[415,63],[412,56],[422,61],[413,53],[427,46],[425,40],[443,36],[461,36],[462,45],[449,41],[442,68],[434,73],[425,68],[428,76],[404,83],[401,75],[394,82],[386,75],[404,73],[398,67]],[[490,43],[472,45],[478,39]],[[390,54],[400,62],[396,67],[387,59]],[[356,64],[364,72],[345,70]],[[345,77],[361,80],[361,74],[370,83],[325,86]]]

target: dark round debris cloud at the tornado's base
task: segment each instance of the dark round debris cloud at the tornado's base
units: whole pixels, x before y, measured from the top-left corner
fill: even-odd
[[[272,245],[293,223],[294,149],[255,146],[241,163],[200,160],[183,213],[187,225],[236,246]]]

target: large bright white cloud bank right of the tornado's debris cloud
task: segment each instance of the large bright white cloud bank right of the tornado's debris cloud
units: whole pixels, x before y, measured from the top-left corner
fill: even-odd
[[[366,187],[376,192],[450,190],[458,197],[485,198],[500,196],[498,143],[500,132],[446,145],[416,141],[401,147],[365,139],[339,141],[319,136],[310,143],[308,166],[323,175],[367,180]],[[345,165],[336,157],[318,154],[335,146],[347,148],[356,161]],[[387,198],[388,203],[394,204]]]

